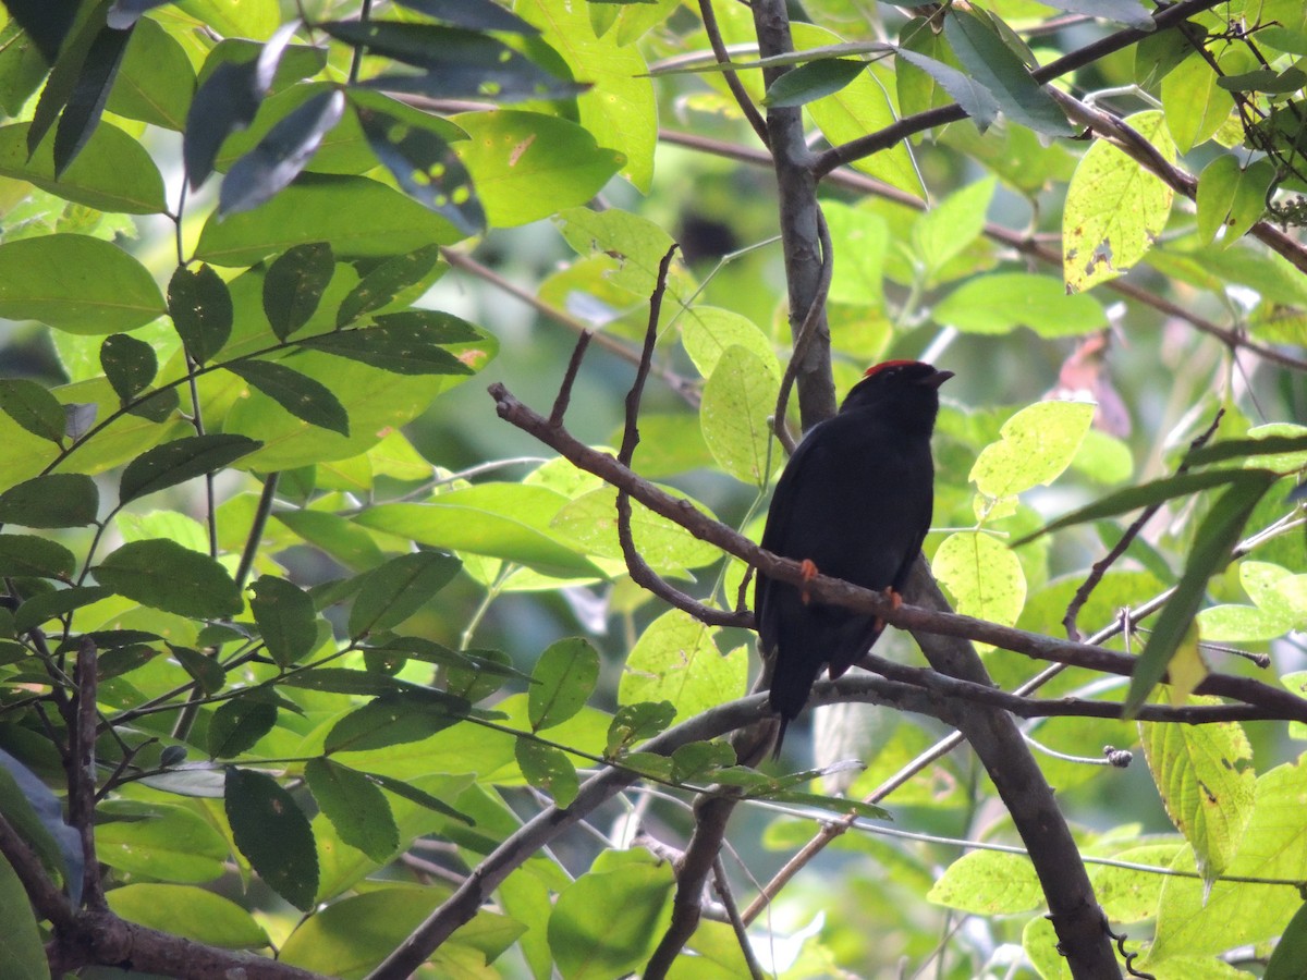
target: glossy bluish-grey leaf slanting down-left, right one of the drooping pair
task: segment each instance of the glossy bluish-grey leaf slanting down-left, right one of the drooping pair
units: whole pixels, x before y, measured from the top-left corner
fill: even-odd
[[[218,196],[218,214],[257,208],[285,188],[318,152],[323,137],[345,111],[345,95],[331,89],[286,115],[227,171]]]

